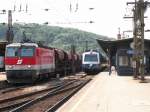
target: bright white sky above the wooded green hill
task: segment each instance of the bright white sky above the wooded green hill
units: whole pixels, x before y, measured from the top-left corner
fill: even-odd
[[[50,26],[77,28],[117,38],[119,28],[122,35],[124,31],[133,29],[132,19],[123,19],[125,15],[132,16],[133,6],[126,5],[131,1],[134,0],[3,0],[0,10],[13,10],[15,6],[13,22],[39,24],[48,22]],[[145,15],[148,16],[149,13],[150,9]],[[89,21],[94,23],[90,24]],[[145,29],[150,29],[149,21],[149,18],[145,20]],[[6,14],[0,14],[0,22],[7,22]],[[132,33],[125,32],[124,36],[132,37]],[[145,33],[145,38],[149,37],[149,33]]]

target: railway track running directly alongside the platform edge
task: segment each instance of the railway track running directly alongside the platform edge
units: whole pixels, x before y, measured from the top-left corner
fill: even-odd
[[[10,112],[54,112],[91,79],[74,81],[38,96]]]

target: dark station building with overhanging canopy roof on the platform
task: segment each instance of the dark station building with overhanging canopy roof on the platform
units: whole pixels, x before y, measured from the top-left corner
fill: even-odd
[[[99,40],[98,44],[107,53],[111,66],[118,75],[133,75],[133,38],[121,40]],[[145,74],[150,73],[150,40],[144,39]]]

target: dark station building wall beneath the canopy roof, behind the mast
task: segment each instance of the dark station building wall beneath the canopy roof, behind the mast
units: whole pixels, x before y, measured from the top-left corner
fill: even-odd
[[[116,70],[118,75],[133,75],[133,49],[130,43],[118,44],[116,50]],[[145,74],[150,73],[150,46],[145,44]]]

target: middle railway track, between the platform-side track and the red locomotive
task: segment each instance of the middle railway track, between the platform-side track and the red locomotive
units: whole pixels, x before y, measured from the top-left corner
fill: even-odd
[[[22,89],[16,90],[16,91],[9,91],[8,93],[1,93],[0,95],[0,111],[7,111],[9,109],[15,108],[16,106],[20,106],[28,101],[30,101],[31,99],[34,99],[35,97],[41,96],[42,94],[47,93],[48,91],[52,91],[57,89],[58,87],[60,87],[61,85],[65,85],[65,83],[71,84],[73,83],[75,80],[70,80],[68,82],[64,81],[62,83],[58,83],[55,85],[47,85],[46,88],[44,89],[40,89],[40,90],[36,90],[36,91],[32,91],[32,92],[28,92],[28,93],[24,93],[22,94],[22,92],[18,92],[18,91],[22,91]],[[24,91],[23,91],[24,92]]]

